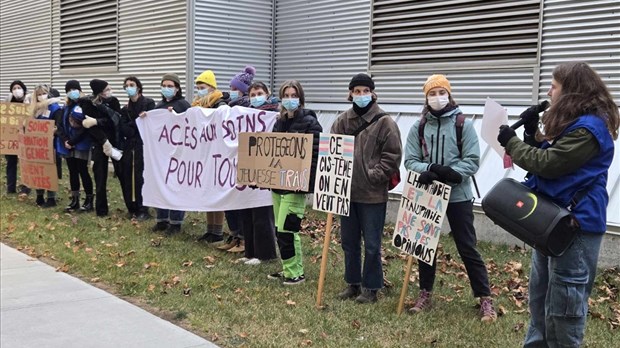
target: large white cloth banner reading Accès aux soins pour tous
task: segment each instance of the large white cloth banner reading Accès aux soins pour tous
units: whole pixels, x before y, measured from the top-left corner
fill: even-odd
[[[136,124],[144,142],[144,205],[224,211],[271,205],[271,192],[237,185],[241,132],[270,132],[276,112],[235,106],[152,110]]]

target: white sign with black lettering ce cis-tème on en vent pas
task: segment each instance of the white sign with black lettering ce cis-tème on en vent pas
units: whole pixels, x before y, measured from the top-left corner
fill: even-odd
[[[312,209],[349,216],[354,142],[349,135],[321,133]]]

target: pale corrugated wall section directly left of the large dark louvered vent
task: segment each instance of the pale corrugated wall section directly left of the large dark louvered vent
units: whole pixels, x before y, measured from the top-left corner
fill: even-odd
[[[295,79],[307,102],[346,102],[368,68],[370,0],[276,1],[276,89]]]

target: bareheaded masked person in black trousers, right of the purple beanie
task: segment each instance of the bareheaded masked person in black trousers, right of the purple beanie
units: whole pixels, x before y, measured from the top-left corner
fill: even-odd
[[[235,76],[233,80],[238,78]],[[231,82],[233,85],[234,82]],[[244,86],[239,86],[245,89]],[[277,99],[269,98],[269,89],[262,82],[254,82],[244,93],[248,93],[250,107],[266,111],[278,111]],[[252,99],[253,98],[253,99]],[[238,210],[241,230],[245,238],[245,257],[240,260],[246,265],[258,265],[264,261],[275,260],[276,232],[273,216],[273,205]]]

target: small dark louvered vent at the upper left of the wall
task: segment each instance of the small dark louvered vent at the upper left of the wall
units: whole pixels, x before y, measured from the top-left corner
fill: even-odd
[[[119,0],[60,0],[59,5],[60,68],[116,67]]]

